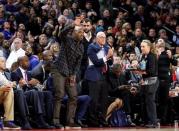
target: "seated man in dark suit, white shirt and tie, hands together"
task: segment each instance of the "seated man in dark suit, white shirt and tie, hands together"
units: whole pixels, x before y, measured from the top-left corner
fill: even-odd
[[[12,80],[17,83],[17,90],[23,90],[27,103],[33,106],[38,128],[51,128],[44,121],[43,114],[45,112],[44,105],[52,103],[52,96],[45,95],[42,91],[38,91],[34,88],[39,84],[39,81],[31,78],[31,75],[27,72],[29,66],[29,59],[27,56],[20,57],[18,59],[18,64],[19,68],[11,74]],[[50,92],[47,94],[50,94]],[[50,102],[44,103],[45,98]]]

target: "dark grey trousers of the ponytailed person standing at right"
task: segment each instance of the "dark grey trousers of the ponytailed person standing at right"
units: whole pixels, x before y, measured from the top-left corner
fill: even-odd
[[[142,87],[142,91],[145,97],[145,105],[148,116],[148,122],[151,124],[157,123],[157,111],[156,111],[156,92],[159,86],[159,81],[157,80],[154,84],[146,85]]]

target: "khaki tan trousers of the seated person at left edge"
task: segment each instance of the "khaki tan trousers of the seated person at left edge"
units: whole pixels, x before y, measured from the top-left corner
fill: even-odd
[[[14,121],[14,92],[12,88],[9,92],[0,91],[0,104],[4,106],[4,120]]]

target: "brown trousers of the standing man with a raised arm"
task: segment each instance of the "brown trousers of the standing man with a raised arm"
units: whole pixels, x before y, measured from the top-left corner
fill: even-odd
[[[63,76],[58,69],[53,68],[51,70],[53,78],[53,86],[55,89],[55,101],[54,101],[54,123],[60,123],[60,108],[63,97],[67,93],[69,99],[67,102],[67,121],[66,123],[74,123],[76,107],[77,107],[77,88],[76,86],[70,86],[66,84],[67,77]]]

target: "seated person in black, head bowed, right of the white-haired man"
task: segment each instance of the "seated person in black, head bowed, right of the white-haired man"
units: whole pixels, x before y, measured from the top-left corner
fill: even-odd
[[[138,86],[126,79],[126,74],[122,71],[120,64],[114,64],[109,74],[110,91],[112,97],[121,98],[124,103],[124,111],[127,114],[127,121],[129,126],[135,126],[131,120],[131,95],[135,96],[138,92]]]

